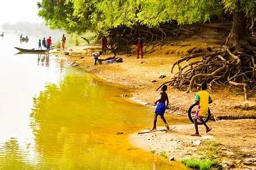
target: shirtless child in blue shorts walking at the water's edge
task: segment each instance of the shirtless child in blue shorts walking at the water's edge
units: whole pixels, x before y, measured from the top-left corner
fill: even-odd
[[[168,126],[168,124],[166,123],[166,120],[164,118],[165,109],[166,109],[167,105],[169,104],[168,95],[167,95],[167,93],[165,93],[165,91],[167,90],[167,86],[163,85],[161,90],[162,91],[160,92],[159,99],[155,102],[155,104],[157,104],[157,102],[158,102],[158,104],[157,104],[156,111],[154,114],[154,125],[150,129],[150,131],[156,130],[156,121],[157,121],[158,115],[161,116],[161,119],[163,120],[167,130],[170,129],[170,127]],[[165,105],[165,102],[166,102],[166,105]]]

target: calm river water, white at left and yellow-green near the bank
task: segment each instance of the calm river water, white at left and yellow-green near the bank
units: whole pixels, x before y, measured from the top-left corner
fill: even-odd
[[[153,110],[118,97],[125,89],[51,54],[14,55],[36,39],[0,39],[1,169],[186,169],[129,144],[129,134],[150,128]]]

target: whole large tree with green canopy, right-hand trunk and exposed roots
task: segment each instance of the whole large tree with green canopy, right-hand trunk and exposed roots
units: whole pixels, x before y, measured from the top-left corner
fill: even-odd
[[[156,35],[156,39],[161,33],[163,41],[166,32],[172,31],[161,26],[173,20],[180,25],[204,23],[213,15],[231,13],[233,26],[225,47],[180,59],[173,65],[179,66],[179,73],[168,83],[180,89],[188,87],[188,92],[202,81],[211,85],[229,82],[245,90],[255,86],[256,40],[248,34],[249,20],[256,15],[255,0],[42,0],[38,7],[39,15],[52,28],[77,33],[110,30],[111,38],[119,38],[119,42],[136,36],[134,29],[143,30],[145,36]],[[132,40],[125,43],[131,45]],[[188,63],[193,58],[201,59]],[[184,61],[187,65],[181,67]]]

